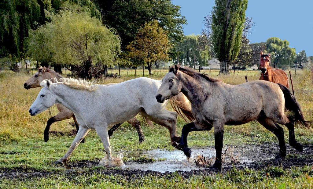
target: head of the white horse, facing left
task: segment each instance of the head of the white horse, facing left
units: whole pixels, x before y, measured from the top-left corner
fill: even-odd
[[[51,84],[52,82],[47,79],[40,83],[40,86],[43,88],[40,90],[35,102],[33,102],[29,109],[31,116],[44,112],[56,103],[56,95],[51,90]]]

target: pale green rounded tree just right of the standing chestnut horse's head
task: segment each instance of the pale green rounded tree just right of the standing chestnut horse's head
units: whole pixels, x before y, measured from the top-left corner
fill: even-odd
[[[274,68],[277,65],[291,67],[296,57],[295,48],[290,48],[287,40],[283,41],[278,37],[271,37],[266,40],[266,51],[271,54]]]

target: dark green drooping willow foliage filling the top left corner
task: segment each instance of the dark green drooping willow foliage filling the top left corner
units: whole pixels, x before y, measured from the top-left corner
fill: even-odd
[[[43,24],[52,10],[51,1],[4,0],[0,2],[0,58],[13,62],[23,58],[27,50],[28,30]]]

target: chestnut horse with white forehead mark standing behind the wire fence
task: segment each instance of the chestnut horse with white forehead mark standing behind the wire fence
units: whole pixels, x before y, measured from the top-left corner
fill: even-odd
[[[260,70],[261,70],[261,77],[259,80],[265,80],[273,83],[280,83],[284,85],[285,87],[289,88],[289,80],[288,75],[284,70],[281,69],[272,69],[272,67],[269,66],[270,62],[270,54],[263,54],[263,52],[260,52],[261,58],[260,58]]]

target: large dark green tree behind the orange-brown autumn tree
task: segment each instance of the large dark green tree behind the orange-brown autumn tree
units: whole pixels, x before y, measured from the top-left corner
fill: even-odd
[[[181,41],[182,25],[186,24],[181,15],[180,6],[171,0],[96,0],[102,13],[103,23],[115,28],[121,37],[121,48],[135,39],[141,27],[152,20],[157,20],[160,27],[167,31],[171,42]]]

